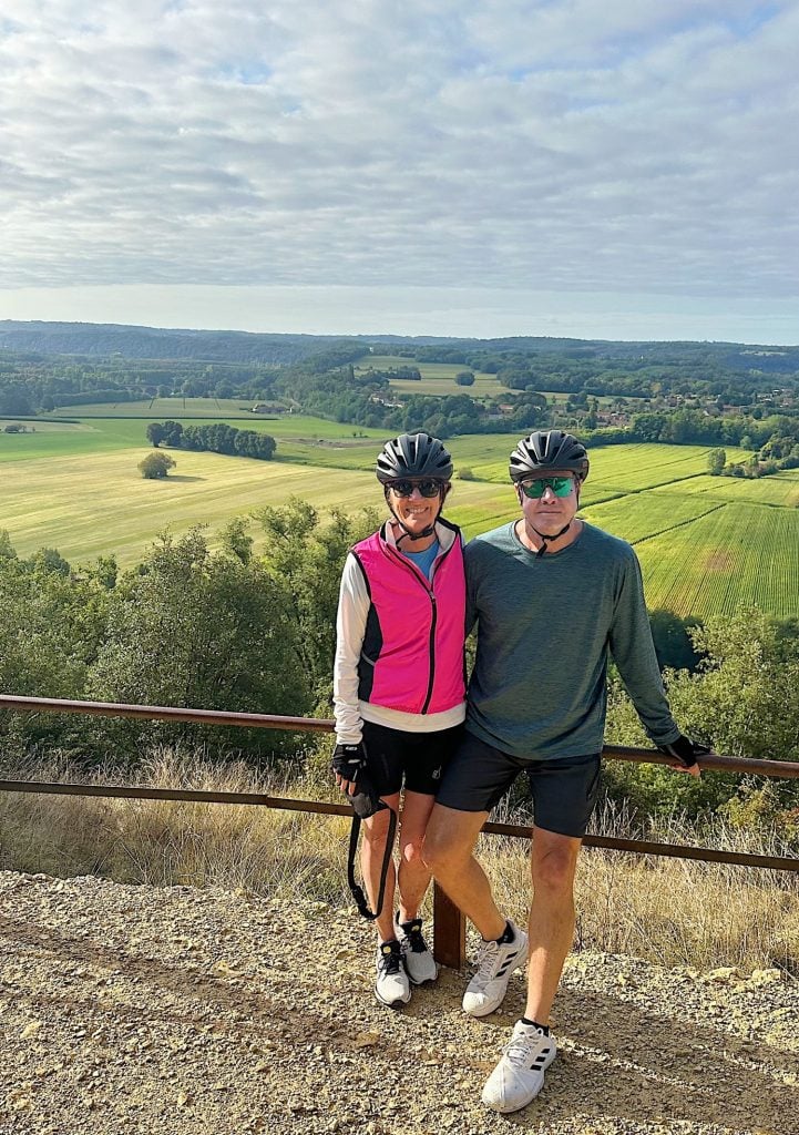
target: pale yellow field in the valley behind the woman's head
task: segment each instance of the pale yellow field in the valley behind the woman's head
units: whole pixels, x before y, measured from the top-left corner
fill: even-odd
[[[165,528],[182,532],[208,524],[213,544],[215,533],[233,516],[284,504],[289,496],[310,501],[322,514],[333,507],[352,512],[381,503],[371,472],[212,453],[177,451],[175,471],[166,480],[149,481],[136,470],[148,452],[142,446],[93,454],[91,460],[5,464],[0,528],[8,530],[20,555],[51,547],[69,561],[87,561],[113,552],[120,563],[132,564]],[[456,502],[472,530],[503,515],[503,505],[510,515],[514,505],[510,487],[497,493],[497,486],[465,481],[456,484],[453,505]]]

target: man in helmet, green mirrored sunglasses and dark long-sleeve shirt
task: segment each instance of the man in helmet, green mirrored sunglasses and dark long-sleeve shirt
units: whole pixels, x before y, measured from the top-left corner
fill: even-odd
[[[482,1093],[496,1111],[528,1104],[556,1053],[549,1011],[574,933],[578,854],[599,788],[612,656],[653,741],[673,767],[699,775],[693,745],[665,699],[629,544],[577,519],[588,476],[583,446],[535,432],[511,454],[522,515],[466,546],[468,628],[478,625],[464,739],[447,767],[424,858],[482,936],[463,998],[493,1012],[529,957],[524,1016]],[[528,934],[497,909],[472,850],[520,772],[535,807]]]

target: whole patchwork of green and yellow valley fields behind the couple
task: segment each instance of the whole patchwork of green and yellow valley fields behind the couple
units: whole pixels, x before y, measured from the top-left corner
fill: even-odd
[[[301,415],[246,419],[278,439],[276,461],[175,451],[174,473],[145,481],[136,465],[149,452],[146,422],[196,419],[200,409],[210,409],[193,400],[194,413],[184,415],[176,405],[182,400],[159,401],[152,407],[127,403],[117,407],[125,411],[119,418],[82,406],[79,423],[36,421],[32,434],[0,432],[0,528],[19,554],[56,547],[81,562],[112,552],[132,564],[167,527],[182,532],[207,524],[213,544],[230,518],[292,495],[321,513],[380,504],[372,470],[382,432]],[[242,427],[230,404],[222,409],[217,420]],[[466,536],[518,514],[507,481],[516,440],[488,435],[448,443],[456,469],[469,468],[477,478],[456,479],[448,506]],[[746,603],[779,617],[796,615],[799,472],[756,481],[709,477],[707,452],[662,445],[592,449],[582,515],[636,546],[651,608],[707,616]],[[727,456],[746,455],[729,449]]]

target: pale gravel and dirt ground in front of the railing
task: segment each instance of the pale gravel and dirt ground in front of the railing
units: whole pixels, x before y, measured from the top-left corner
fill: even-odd
[[[723,915],[720,915],[723,916]],[[444,970],[400,1012],[352,911],[0,873],[2,1135],[799,1135],[799,983],[573,955],[560,1053],[511,1117],[480,1090],[522,1010]]]

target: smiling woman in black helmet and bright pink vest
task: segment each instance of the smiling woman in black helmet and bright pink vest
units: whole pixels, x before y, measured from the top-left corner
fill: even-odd
[[[429,434],[385,445],[377,479],[392,515],[351,549],[336,622],[336,781],[353,796],[365,773],[387,806],[364,821],[361,867],[376,910],[375,993],[390,1008],[437,975],[419,917],[430,882],[421,846],[465,716],[463,543],[440,515],[452,469]],[[400,868],[389,863],[377,910],[387,809],[401,817]]]

